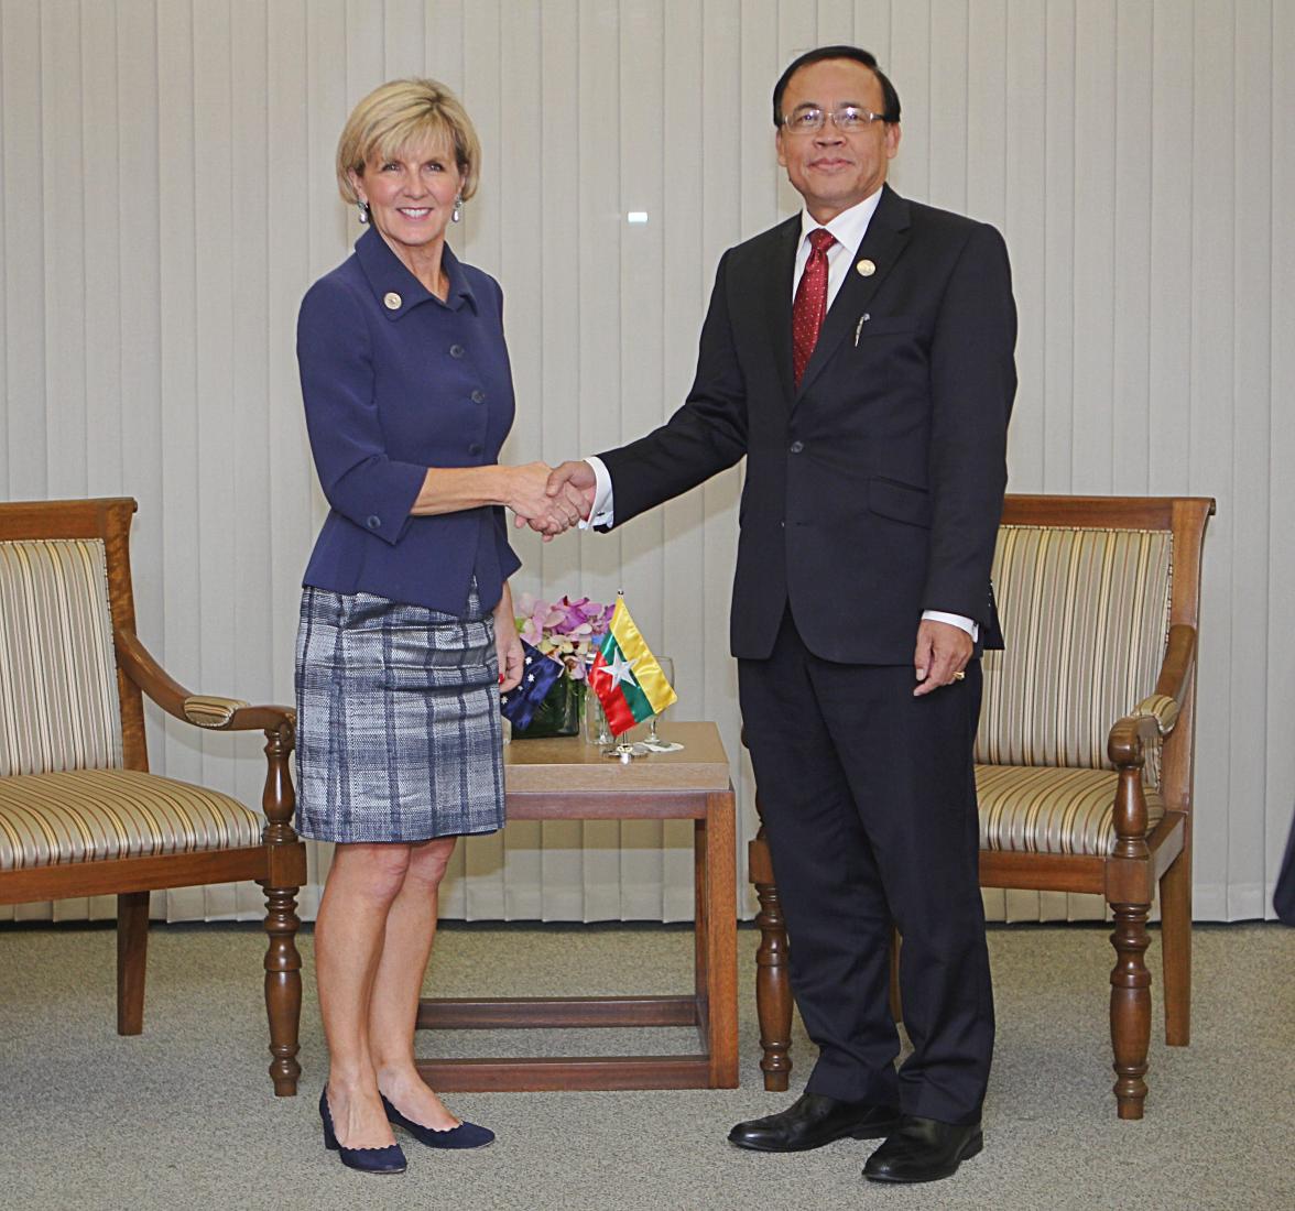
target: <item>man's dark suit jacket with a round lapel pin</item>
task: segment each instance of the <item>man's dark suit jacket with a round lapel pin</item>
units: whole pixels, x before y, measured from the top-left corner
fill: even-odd
[[[830,661],[909,663],[923,610],[988,639],[1017,389],[1002,237],[884,187],[796,390],[799,238],[796,215],[724,254],[686,403],[600,456],[615,522],[746,455],[733,655],[768,657],[789,600]]]

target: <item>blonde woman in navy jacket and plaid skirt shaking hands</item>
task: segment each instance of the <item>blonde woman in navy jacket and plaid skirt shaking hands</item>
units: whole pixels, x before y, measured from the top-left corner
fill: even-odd
[[[414,1018],[438,887],[458,837],[504,822],[500,688],[521,680],[504,506],[545,534],[579,500],[548,468],[499,464],[513,422],[502,295],[445,233],[480,145],[434,80],[366,96],[337,179],[366,229],[306,294],[298,361],[330,504],[303,578],[297,644],[298,830],[335,842],[315,929],[330,1071],[324,1140],[400,1172],[401,1127],[479,1148],[418,1076]]]

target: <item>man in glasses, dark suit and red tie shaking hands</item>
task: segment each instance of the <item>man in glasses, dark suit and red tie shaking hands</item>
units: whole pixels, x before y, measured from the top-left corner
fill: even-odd
[[[853,47],[773,93],[804,211],[725,253],[686,403],[549,481],[620,525],[743,456],[732,649],[820,1057],[742,1148],[879,1138],[865,1176],[945,1177],[982,1148],[993,1002],[971,750],[1006,486],[1015,310],[991,227],[886,184],[899,97]],[[896,1071],[892,922],[913,1054]]]

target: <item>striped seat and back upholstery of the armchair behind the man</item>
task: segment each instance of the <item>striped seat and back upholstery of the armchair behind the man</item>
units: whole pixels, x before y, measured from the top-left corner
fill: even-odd
[[[1116,775],[1106,741],[1123,715],[1166,708],[1153,692],[1172,567],[1168,531],[1000,528],[993,580],[1006,650],[984,658],[980,848],[1110,854]],[[1164,813],[1154,758],[1147,782],[1154,828]]]

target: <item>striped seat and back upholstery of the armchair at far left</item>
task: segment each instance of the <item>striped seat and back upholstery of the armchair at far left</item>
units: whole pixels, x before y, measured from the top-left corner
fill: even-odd
[[[102,540],[0,543],[0,872],[259,842],[236,799],[122,768]]]

